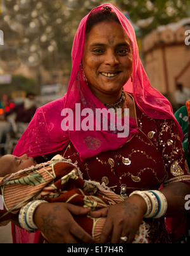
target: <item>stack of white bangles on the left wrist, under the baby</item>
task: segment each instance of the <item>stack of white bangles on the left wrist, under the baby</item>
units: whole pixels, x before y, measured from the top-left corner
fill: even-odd
[[[26,229],[27,231],[30,231],[30,232],[37,231],[38,228],[34,224],[33,217],[34,217],[35,209],[39,205],[41,205],[41,203],[47,203],[47,202],[44,200],[35,200],[30,203],[27,203],[27,205],[23,206],[20,209],[18,220],[19,220],[20,226],[23,229]]]

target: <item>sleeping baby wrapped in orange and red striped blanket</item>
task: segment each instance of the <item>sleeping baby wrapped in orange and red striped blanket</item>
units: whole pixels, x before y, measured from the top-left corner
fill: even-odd
[[[77,165],[60,155],[41,164],[27,155],[1,157],[0,195],[4,199],[4,210],[0,210],[0,226],[8,224],[20,212],[20,208],[32,200],[69,202],[80,207],[91,207],[92,211],[124,201],[124,198],[105,190],[99,183],[82,179]],[[96,219],[88,215],[75,218],[99,243],[105,218]],[[145,229],[146,224],[143,223],[134,243],[140,240],[148,242]]]

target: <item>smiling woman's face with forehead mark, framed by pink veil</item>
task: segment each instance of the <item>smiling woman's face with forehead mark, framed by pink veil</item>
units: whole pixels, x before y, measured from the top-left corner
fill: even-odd
[[[103,103],[108,94],[114,102],[132,75],[132,63],[132,43],[119,23],[98,23],[85,35],[84,74],[92,93]]]

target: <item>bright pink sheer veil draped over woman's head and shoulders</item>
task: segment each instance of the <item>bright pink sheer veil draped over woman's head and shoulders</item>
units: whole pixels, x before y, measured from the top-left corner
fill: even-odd
[[[125,84],[125,91],[134,94],[137,106],[149,117],[173,119],[177,127],[179,127],[179,134],[182,137],[181,127],[173,115],[169,101],[149,83],[148,76],[139,58],[136,35],[129,20],[112,4],[98,6],[91,13],[101,10],[103,6],[109,6],[117,14],[122,27],[132,41],[134,55],[133,80]],[[103,103],[91,93],[87,83],[82,79],[82,70],[80,68],[84,48],[85,26],[89,15],[85,16],[80,22],[73,41],[72,74],[67,93],[63,98],[42,106],[37,110],[27,130],[20,141],[18,141],[13,152],[14,155],[21,156],[27,153],[30,157],[37,157],[61,151],[69,141],[72,141],[75,149],[79,151],[81,160],[84,160],[85,158],[98,155],[102,151],[119,148],[137,133],[136,121],[133,118],[130,118],[130,132],[127,138],[118,138],[117,134],[110,131],[63,131],[61,129],[61,122],[63,120],[61,111],[63,108],[75,110],[75,103],[80,103],[81,111],[84,108],[91,108],[92,110],[105,108]],[[13,228],[13,237],[15,237],[16,242],[22,241],[24,243],[24,241],[27,241],[27,243],[37,243],[39,233],[36,236],[32,234],[32,239],[30,240],[29,235],[25,231],[17,231],[17,229],[17,227]],[[22,240],[18,238],[18,235]]]

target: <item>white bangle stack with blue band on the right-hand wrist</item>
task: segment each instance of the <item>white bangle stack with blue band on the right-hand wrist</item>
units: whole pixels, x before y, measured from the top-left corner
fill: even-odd
[[[144,218],[161,218],[167,212],[167,199],[162,192],[152,191],[134,191],[129,196],[139,195],[146,202],[147,211]]]

